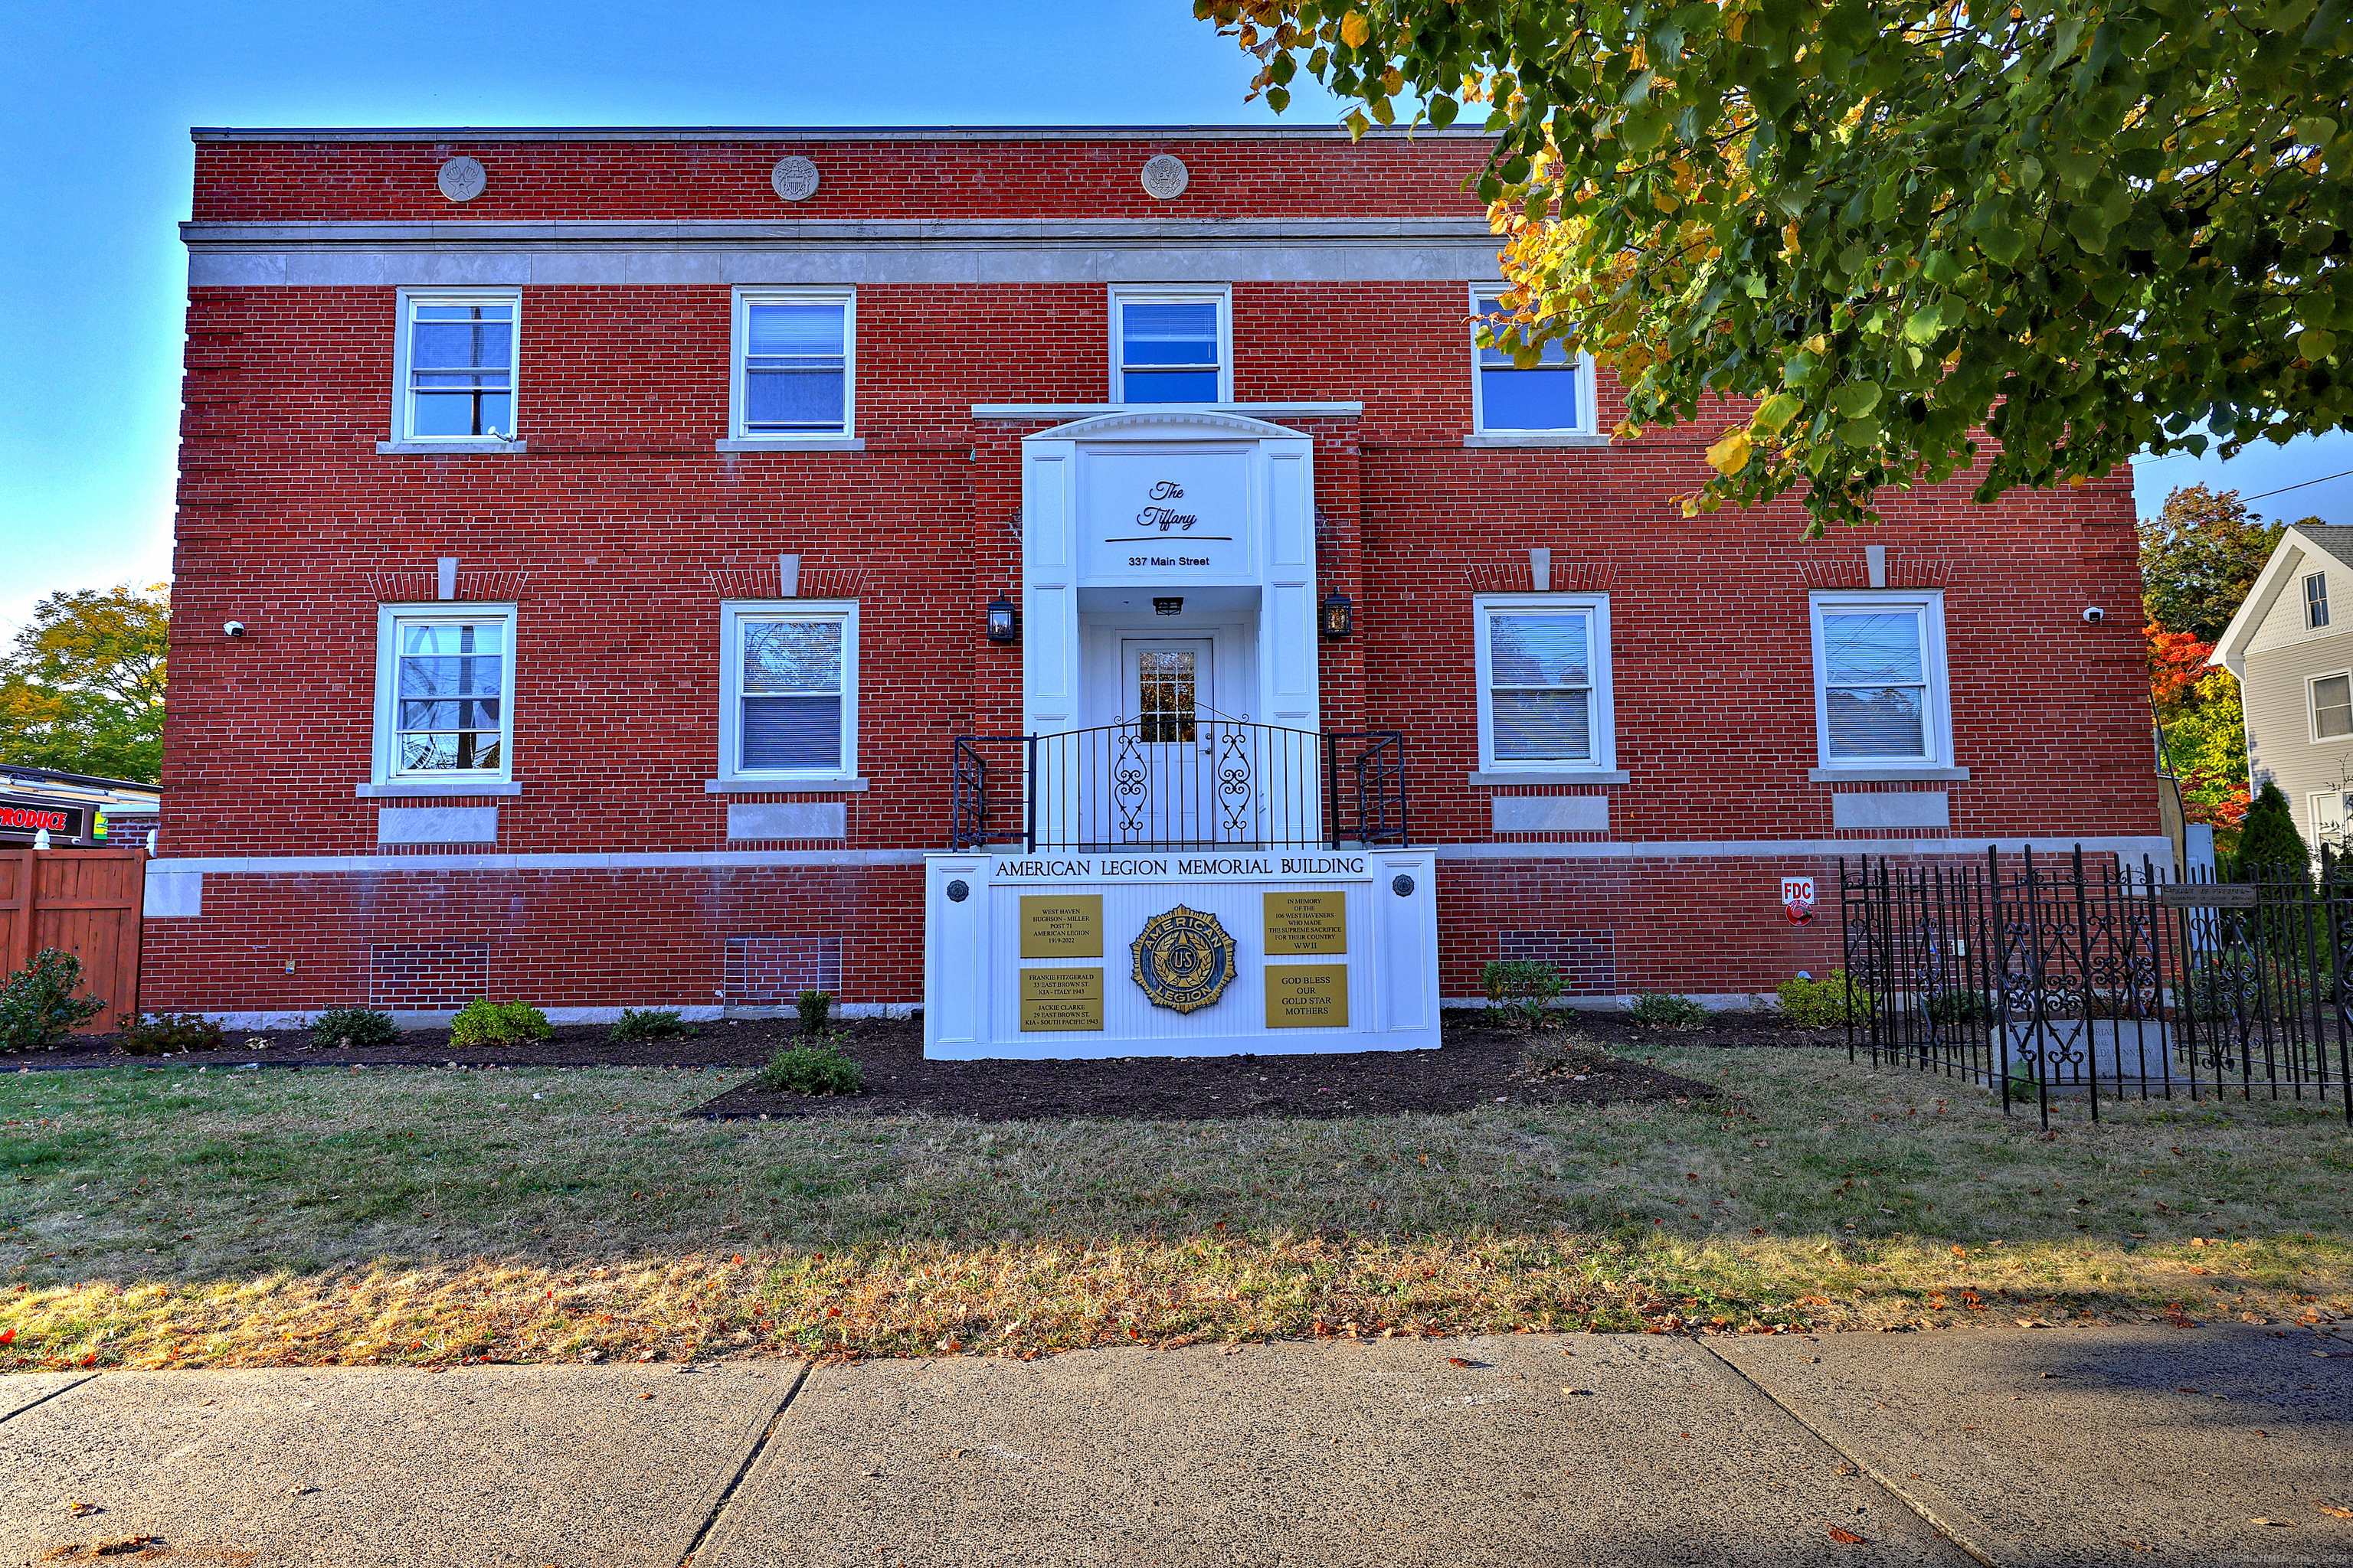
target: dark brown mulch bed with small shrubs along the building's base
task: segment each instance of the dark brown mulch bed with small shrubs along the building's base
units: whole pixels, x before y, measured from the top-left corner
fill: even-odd
[[[75,1037],[54,1051],[0,1058],[12,1067],[720,1067],[746,1074],[798,1037],[795,1018],[732,1018],[692,1025],[678,1039],[614,1041],[607,1025],[567,1025],[520,1046],[449,1048],[447,1030],[405,1032],[374,1051],[318,1051],[301,1030],[233,1032],[221,1051],[125,1056],[106,1039]],[[842,1048],[866,1070],[856,1095],[805,1098],[741,1084],[689,1117],[1031,1117],[1233,1119],[1381,1117],[1461,1112],[1473,1105],[1624,1103],[1711,1098],[1715,1088],[1607,1056],[1628,1044],[1729,1048],[1821,1046],[1835,1030],[1793,1030],[1774,1013],[1715,1013],[1682,1034],[1659,1034],[1614,1013],[1577,1013],[1539,1039],[1584,1037],[1598,1051],[1567,1072],[1522,1070],[1529,1037],[1489,1027],[1478,1011],[1445,1016],[1438,1051],[1353,1051],[1346,1056],[1113,1058],[1061,1063],[932,1063],[922,1023],[859,1018],[840,1025]],[[256,1041],[268,1041],[256,1044]],[[1577,1077],[1584,1074],[1584,1077]]]

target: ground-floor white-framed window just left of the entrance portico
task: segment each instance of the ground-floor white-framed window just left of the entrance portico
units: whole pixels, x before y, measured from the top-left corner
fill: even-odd
[[[720,607],[720,778],[854,778],[856,599]]]

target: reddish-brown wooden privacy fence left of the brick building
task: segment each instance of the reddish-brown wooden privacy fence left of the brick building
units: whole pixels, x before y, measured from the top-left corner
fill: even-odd
[[[82,1034],[120,1030],[139,1011],[144,849],[0,849],[0,978],[42,947],[82,959],[82,994],[106,1011]]]

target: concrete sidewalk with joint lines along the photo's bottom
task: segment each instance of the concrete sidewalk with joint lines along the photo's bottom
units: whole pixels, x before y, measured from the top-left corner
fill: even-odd
[[[2353,1563],[2348,1427],[2301,1328],[38,1375],[0,1568]]]

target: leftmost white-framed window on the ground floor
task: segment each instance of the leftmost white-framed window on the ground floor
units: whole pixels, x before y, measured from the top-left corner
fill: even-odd
[[[515,607],[376,611],[376,783],[513,778]]]

